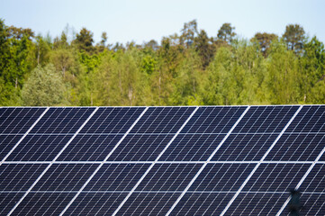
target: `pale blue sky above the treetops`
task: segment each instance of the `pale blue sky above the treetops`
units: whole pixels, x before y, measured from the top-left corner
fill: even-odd
[[[256,32],[282,35],[287,24],[298,23],[309,37],[325,42],[324,9],[325,0],[0,0],[0,19],[52,38],[67,26],[70,33],[86,27],[96,42],[106,31],[113,44],[160,42],[194,19],[209,37],[231,23],[243,39]]]

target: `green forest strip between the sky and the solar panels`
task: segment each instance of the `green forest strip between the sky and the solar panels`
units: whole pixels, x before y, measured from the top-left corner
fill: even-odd
[[[325,103],[325,49],[299,24],[251,39],[223,23],[211,37],[193,20],[143,44],[103,32],[36,35],[0,19],[1,106]]]

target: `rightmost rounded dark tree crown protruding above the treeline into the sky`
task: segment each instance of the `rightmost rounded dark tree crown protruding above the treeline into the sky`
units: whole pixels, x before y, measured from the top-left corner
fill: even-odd
[[[289,24],[285,26],[285,32],[282,36],[289,50],[299,53],[302,50],[305,40],[304,30],[299,24]]]

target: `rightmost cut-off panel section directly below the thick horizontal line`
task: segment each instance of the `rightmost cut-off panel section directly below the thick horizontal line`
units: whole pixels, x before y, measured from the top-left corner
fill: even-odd
[[[302,192],[325,192],[325,165],[316,164],[299,188]]]

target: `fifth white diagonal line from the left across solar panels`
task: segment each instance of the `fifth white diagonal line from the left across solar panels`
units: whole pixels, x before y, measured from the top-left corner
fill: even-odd
[[[183,193],[181,193],[181,195],[177,198],[176,202],[174,202],[174,204],[172,205],[172,207],[169,209],[169,211],[167,211],[166,215],[169,215],[176,207],[177,203],[180,202],[180,200],[183,198],[183,196],[185,195],[185,193],[188,191],[188,189],[192,186],[192,184],[194,184],[194,181],[196,180],[196,178],[202,173],[203,169],[205,166],[207,166],[208,162],[212,160],[212,157],[215,155],[215,153],[219,150],[219,148],[221,148],[222,144],[225,142],[225,140],[230,136],[230,133],[232,132],[232,130],[234,130],[236,128],[236,126],[239,124],[239,121],[241,121],[241,119],[244,117],[244,115],[248,112],[250,106],[248,106],[246,108],[246,110],[240,115],[239,119],[234,123],[234,125],[231,127],[231,129],[228,131],[227,135],[221,140],[220,144],[218,145],[217,148],[214,149],[214,151],[212,152],[212,155],[204,162],[203,166],[200,168],[200,170],[196,173],[196,175],[194,175],[194,178],[191,180],[191,182],[185,187],[185,190],[183,191]]]

